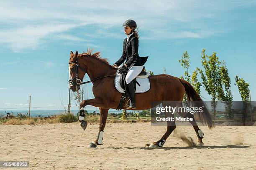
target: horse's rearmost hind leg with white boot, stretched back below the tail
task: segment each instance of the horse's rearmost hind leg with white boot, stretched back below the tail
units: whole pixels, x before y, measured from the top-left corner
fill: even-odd
[[[180,104],[179,107],[182,107],[182,103]],[[198,128],[197,122],[195,121],[195,116],[189,112],[178,112],[178,114],[182,117],[189,117],[189,119],[192,118],[192,121],[189,121],[189,123],[193,126],[195,133],[197,134],[197,146],[203,146],[204,143],[202,142],[202,138],[204,138],[204,133],[202,132],[202,130]]]

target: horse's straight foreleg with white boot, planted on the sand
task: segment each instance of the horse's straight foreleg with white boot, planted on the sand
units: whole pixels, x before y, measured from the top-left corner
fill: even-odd
[[[100,129],[99,129],[99,133],[97,136],[97,139],[92,141],[89,145],[88,148],[96,148],[97,145],[102,145],[103,142],[103,130],[105,128],[106,125],[106,121],[107,121],[107,117],[108,117],[108,110],[109,109],[102,109],[100,108]]]

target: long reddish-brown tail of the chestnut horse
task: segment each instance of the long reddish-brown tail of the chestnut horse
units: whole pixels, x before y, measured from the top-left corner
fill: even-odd
[[[197,116],[199,117],[200,122],[204,125],[204,122],[208,125],[209,129],[215,126],[215,123],[212,121],[212,115],[210,115],[209,110],[205,106],[205,103],[202,101],[200,95],[195,91],[194,87],[189,84],[186,80],[179,79],[182,85],[185,87],[185,92],[187,95],[187,102],[190,105],[191,101],[195,102],[195,107],[202,107],[202,112],[198,112]]]

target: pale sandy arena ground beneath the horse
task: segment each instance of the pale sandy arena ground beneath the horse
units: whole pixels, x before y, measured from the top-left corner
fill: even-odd
[[[164,147],[146,149],[146,143],[161,138],[165,126],[107,123],[104,145],[87,148],[97,136],[97,123],[89,123],[85,131],[77,123],[0,125],[0,161],[29,161],[30,167],[21,169],[30,170],[256,169],[256,126],[200,128],[205,133],[203,147],[188,147],[177,136],[183,133],[197,140],[195,131],[179,126],[179,135],[172,133]],[[8,168],[12,169],[20,168]]]

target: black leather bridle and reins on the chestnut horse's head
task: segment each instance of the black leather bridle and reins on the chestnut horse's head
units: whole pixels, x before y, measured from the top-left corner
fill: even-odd
[[[83,84],[86,84],[86,83],[89,83],[89,82],[92,82],[92,81],[94,81],[94,80],[98,80],[98,79],[101,79],[101,78],[105,78],[105,77],[110,77],[110,76],[113,76],[113,75],[116,75],[116,73],[115,74],[113,74],[113,75],[106,75],[106,76],[103,76],[103,77],[98,77],[98,78],[95,78],[95,79],[93,79],[93,80],[90,80],[90,81],[86,81],[86,82],[82,82],[83,80],[81,80],[81,79],[79,79],[79,77],[78,77],[78,67],[80,67],[85,73],[86,73],[86,70],[84,70],[79,64],[78,64],[78,61],[77,60],[75,60],[75,61],[69,61],[69,64],[72,64],[72,63],[75,63],[76,65],[75,65],[75,73],[76,73],[76,77],[75,78],[71,78],[71,75],[70,75],[70,66],[69,66],[69,78],[71,78],[71,79],[69,79],[69,82],[71,82],[71,84],[73,84],[74,83],[74,80],[75,80],[75,83],[79,86],[79,85],[83,85]]]

